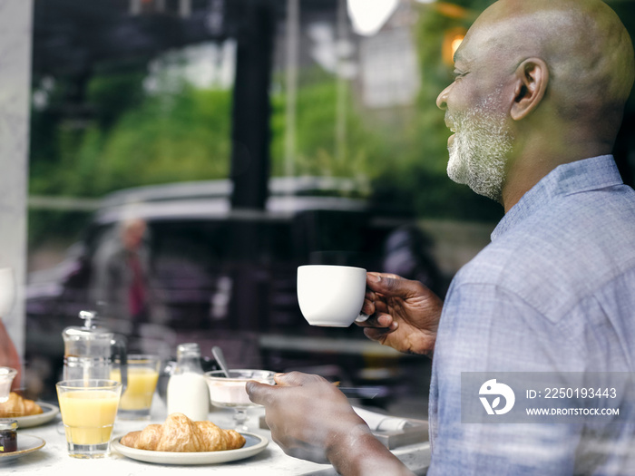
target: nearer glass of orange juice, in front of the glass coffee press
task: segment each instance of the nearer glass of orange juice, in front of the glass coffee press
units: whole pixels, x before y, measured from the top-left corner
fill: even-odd
[[[64,380],[55,386],[68,453],[74,458],[106,456],[122,384],[115,380],[87,379]]]

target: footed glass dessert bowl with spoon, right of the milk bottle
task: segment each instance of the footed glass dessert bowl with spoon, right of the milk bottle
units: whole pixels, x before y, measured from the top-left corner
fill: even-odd
[[[222,370],[213,370],[205,373],[205,379],[210,387],[211,404],[218,407],[233,408],[233,419],[236,430],[247,432],[247,410],[249,407],[260,406],[249,400],[245,385],[249,380],[255,380],[261,384],[275,384],[274,372],[269,370],[237,369],[230,370],[230,378],[225,376]]]

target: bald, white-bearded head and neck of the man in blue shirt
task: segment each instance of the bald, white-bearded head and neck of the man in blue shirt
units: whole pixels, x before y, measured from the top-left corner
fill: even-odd
[[[448,176],[505,210],[559,165],[612,151],[635,75],[601,0],[499,0],[454,54],[439,94]]]

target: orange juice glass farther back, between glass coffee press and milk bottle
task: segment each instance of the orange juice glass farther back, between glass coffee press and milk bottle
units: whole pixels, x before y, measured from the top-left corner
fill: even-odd
[[[119,402],[119,418],[122,420],[148,420],[152,397],[159,380],[159,355],[128,355],[128,386],[123,389]],[[111,371],[112,380],[122,381],[122,373],[115,366]]]

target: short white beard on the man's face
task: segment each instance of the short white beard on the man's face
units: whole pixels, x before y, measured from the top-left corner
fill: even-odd
[[[447,175],[479,195],[501,201],[513,135],[505,125],[506,116],[492,112],[497,101],[491,95],[469,112],[447,113],[456,131],[448,147]]]

